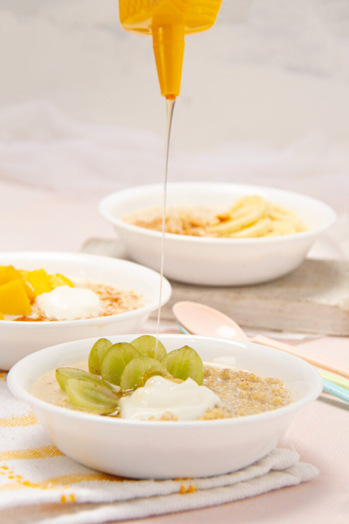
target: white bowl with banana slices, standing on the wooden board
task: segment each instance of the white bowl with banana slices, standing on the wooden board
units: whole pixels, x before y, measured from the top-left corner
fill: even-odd
[[[127,224],[121,217],[152,206],[162,206],[163,185],[143,185],[108,195],[99,212],[125,243],[133,260],[159,270],[161,233]],[[247,194],[258,194],[295,211],[309,231],[265,238],[204,238],[166,234],[164,274],[191,284],[243,286],[265,282],[295,269],[314,240],[335,221],[335,212],[309,196],[257,185],[170,183],[167,206],[213,205],[229,208]]]

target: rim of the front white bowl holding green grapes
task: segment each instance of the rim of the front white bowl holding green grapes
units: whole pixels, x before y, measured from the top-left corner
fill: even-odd
[[[156,334],[152,334],[153,336],[156,336]],[[129,335],[117,335],[117,338],[119,339],[122,336],[134,336],[139,337],[141,336],[139,333],[137,334],[129,334]],[[183,334],[169,334],[169,333],[160,333],[160,338],[162,340],[170,339],[170,338],[178,338],[178,340],[181,339],[181,337],[186,337],[187,335]],[[208,336],[199,336],[199,335],[190,335],[190,337],[194,338],[198,342],[200,340],[210,340],[212,343],[215,342],[222,342],[222,340],[226,342],[230,342],[232,345],[234,343],[238,343],[241,346],[240,341],[234,341],[234,340],[228,340],[228,339],[219,339],[217,337],[208,337]],[[114,338],[114,337],[110,337]],[[40,358],[40,355],[43,353],[52,353],[53,350],[59,351],[59,349],[62,346],[74,346],[74,345],[80,345],[81,342],[86,342],[86,344],[89,344],[92,347],[92,344],[96,341],[96,337],[90,338],[90,339],[82,339],[82,340],[76,340],[72,342],[64,342],[62,344],[56,344],[54,346],[46,347],[42,350],[36,351],[35,353],[32,353],[24,358],[22,358],[19,362],[17,362],[8,372],[7,375],[7,383],[10,391],[18,397],[20,400],[28,403],[30,406],[36,406],[39,409],[42,409],[44,411],[50,411],[52,414],[57,413],[63,414],[67,418],[75,418],[78,420],[90,420],[90,421],[97,421],[99,420],[99,424],[106,425],[107,427],[110,424],[117,424],[117,425],[131,425],[135,427],[148,427],[148,428],[177,428],[181,429],[183,427],[185,428],[193,428],[193,427],[207,427],[207,423],[210,425],[227,425],[227,424],[253,424],[254,422],[261,421],[261,420],[268,420],[268,419],[274,419],[275,417],[279,417],[280,414],[287,414],[292,411],[297,411],[302,406],[306,405],[307,403],[311,402],[312,400],[316,400],[318,396],[320,395],[322,388],[323,388],[323,381],[320,373],[318,370],[308,364],[306,361],[302,361],[301,358],[295,357],[294,355],[291,355],[289,353],[281,352],[281,350],[277,350],[274,347],[269,346],[262,346],[261,344],[254,344],[253,342],[243,342],[247,346],[258,346],[259,348],[263,347],[264,351],[267,350],[271,354],[280,354],[284,353],[285,358],[290,359],[291,361],[297,360],[298,362],[301,361],[302,365],[304,365],[312,375],[312,384],[314,386],[313,391],[309,392],[305,396],[303,396],[301,399],[296,400],[294,402],[291,402],[287,406],[282,406],[280,408],[277,408],[272,411],[264,411],[262,413],[255,413],[252,415],[246,415],[244,417],[233,417],[233,418],[226,418],[226,419],[215,419],[215,420],[194,420],[194,421],[153,421],[153,420],[126,420],[126,419],[120,419],[115,417],[103,417],[94,413],[87,413],[83,411],[75,411],[67,408],[63,408],[61,406],[54,406],[53,404],[50,404],[49,402],[45,402],[44,400],[41,400],[35,396],[33,396],[31,393],[28,393],[28,391],[21,385],[16,383],[16,373],[19,371],[22,366],[26,368],[27,361],[32,360],[33,358]],[[96,418],[97,417],[97,418]]]

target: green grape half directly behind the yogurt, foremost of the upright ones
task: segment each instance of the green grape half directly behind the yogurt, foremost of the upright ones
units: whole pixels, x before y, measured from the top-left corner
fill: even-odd
[[[155,358],[133,358],[125,367],[120,379],[122,391],[130,391],[144,386],[154,375],[168,375],[165,366]]]

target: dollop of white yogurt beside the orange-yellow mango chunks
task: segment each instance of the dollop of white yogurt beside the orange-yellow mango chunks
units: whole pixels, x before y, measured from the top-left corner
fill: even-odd
[[[99,316],[102,311],[98,295],[91,289],[59,286],[41,293],[35,303],[48,319],[75,320]]]

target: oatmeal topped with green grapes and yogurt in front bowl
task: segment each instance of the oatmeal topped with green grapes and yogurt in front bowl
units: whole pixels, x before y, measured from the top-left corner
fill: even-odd
[[[87,362],[44,375],[32,394],[69,409],[148,421],[243,417],[291,402],[278,378],[203,363],[187,345],[167,353],[152,335],[116,344],[98,339]]]

